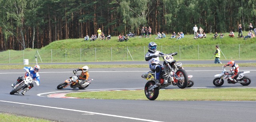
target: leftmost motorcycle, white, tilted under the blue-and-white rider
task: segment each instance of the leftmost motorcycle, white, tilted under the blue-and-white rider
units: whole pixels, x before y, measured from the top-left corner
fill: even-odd
[[[35,82],[36,85],[39,85],[38,82],[34,81],[31,76],[28,76],[26,78],[22,76],[22,81],[13,87],[12,91],[10,92],[10,95],[13,95],[14,93],[19,93],[20,91],[30,87],[30,85],[34,85],[32,84],[32,82]]]

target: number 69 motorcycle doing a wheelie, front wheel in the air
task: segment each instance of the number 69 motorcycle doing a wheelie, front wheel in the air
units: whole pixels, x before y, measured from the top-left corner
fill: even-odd
[[[171,54],[159,55],[164,59],[162,64],[162,74],[160,75],[160,86],[155,85],[155,73],[150,71],[142,75],[142,78],[148,80],[144,87],[144,92],[149,100],[155,100],[158,97],[159,89],[167,87],[171,84],[176,84],[180,89],[184,89],[188,86],[188,75],[186,71],[181,67],[182,64],[176,64],[176,60],[172,56],[178,54],[177,52]]]

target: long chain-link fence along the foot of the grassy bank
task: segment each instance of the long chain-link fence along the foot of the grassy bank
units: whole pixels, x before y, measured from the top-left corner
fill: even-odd
[[[158,46],[157,50],[163,53],[178,52],[175,60],[213,60],[216,45],[180,45]],[[255,44],[219,45],[221,60],[255,60]],[[100,47],[100,48],[77,48],[77,49],[41,49],[41,50],[7,50],[0,52],[0,63],[23,63],[24,59],[34,62],[34,56],[38,62],[94,62],[94,61],[144,61],[147,46],[132,47]]]

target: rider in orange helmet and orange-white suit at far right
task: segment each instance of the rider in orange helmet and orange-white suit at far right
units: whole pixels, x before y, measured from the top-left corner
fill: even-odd
[[[236,64],[234,60],[230,60],[228,64],[224,65],[224,67],[226,66],[232,67],[232,69],[230,69],[231,73],[225,74],[225,75],[232,75],[228,77],[228,81],[236,82],[236,79],[234,79],[234,77],[236,77],[239,72],[238,64]]]

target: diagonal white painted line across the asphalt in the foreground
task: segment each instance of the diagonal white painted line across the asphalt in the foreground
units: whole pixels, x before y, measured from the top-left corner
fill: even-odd
[[[83,111],[83,110],[74,110],[74,109],[68,109],[68,108],[49,107],[49,106],[44,106],[44,105],[35,105],[35,104],[27,104],[27,103],[18,103],[18,102],[12,102],[12,101],[0,101],[0,102],[15,103],[15,104],[21,104],[21,105],[30,105],[30,106],[44,107],[44,108],[54,108],[54,109],[60,109],[60,110],[70,110],[70,111],[83,112],[83,113],[88,113],[88,114],[98,114],[98,115],[104,115],[104,116],[112,116],[112,117],[119,117],[119,118],[127,118],[127,119],[141,120],[141,121],[147,121],[147,122],[161,122],[161,121],[147,120],[147,119],[141,119],[141,118],[133,118],[133,117],[127,117],[127,116],[118,116],[118,115],[112,115],[112,114],[103,114],[103,113],[98,113],[98,112],[90,112],[90,111]]]

